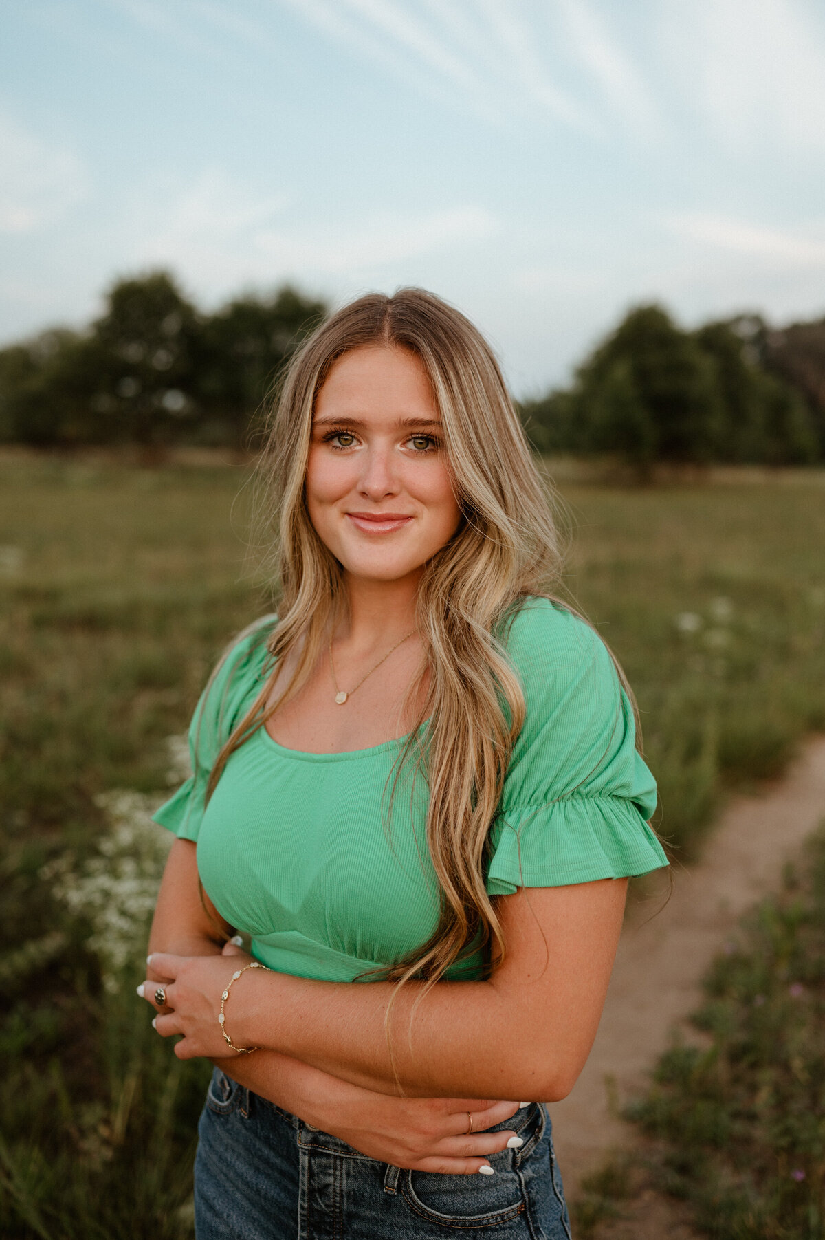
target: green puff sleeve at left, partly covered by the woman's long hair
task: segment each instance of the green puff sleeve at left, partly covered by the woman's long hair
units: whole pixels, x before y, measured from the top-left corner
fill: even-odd
[[[188,742],[193,774],[152,815],[180,839],[197,841],[206,810],[209,773],[233,728],[243,718],[265,676],[266,637],[276,616],[264,616],[245,629],[224,651],[194,708]]]

